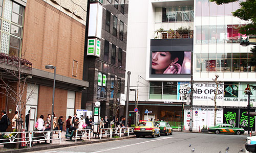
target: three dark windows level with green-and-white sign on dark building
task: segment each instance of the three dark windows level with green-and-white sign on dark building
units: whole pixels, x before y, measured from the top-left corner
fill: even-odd
[[[104,58],[103,60],[106,62],[109,62],[109,47],[110,47],[110,42],[108,40],[105,40],[104,42]],[[116,65],[116,48],[117,46],[112,44],[111,47],[111,64]],[[118,47],[118,67],[122,67],[122,50],[121,48]]]

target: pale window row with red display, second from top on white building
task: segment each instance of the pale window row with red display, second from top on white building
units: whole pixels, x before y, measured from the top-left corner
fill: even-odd
[[[240,43],[247,39],[239,33],[243,25],[199,25],[196,26],[196,43]]]

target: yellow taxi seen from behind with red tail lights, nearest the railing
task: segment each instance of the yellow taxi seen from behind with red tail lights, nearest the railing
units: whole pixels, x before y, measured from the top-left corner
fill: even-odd
[[[138,126],[134,128],[134,134],[137,138],[140,136],[152,136],[152,138],[155,138],[157,135],[160,137],[160,129],[158,125],[155,122],[152,121],[140,121],[138,123]]]

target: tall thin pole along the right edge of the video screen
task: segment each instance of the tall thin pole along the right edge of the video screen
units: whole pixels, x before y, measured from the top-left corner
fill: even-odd
[[[192,132],[193,131],[193,92],[194,92],[194,88],[193,88],[193,51],[191,51],[191,92],[190,92],[190,110],[191,110],[191,118],[189,120],[189,131]]]

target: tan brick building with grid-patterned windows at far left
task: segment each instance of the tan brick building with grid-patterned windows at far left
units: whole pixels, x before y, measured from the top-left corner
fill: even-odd
[[[23,112],[25,117],[32,110],[29,130],[40,115],[46,118],[52,112],[54,71],[46,65],[56,66],[56,117],[73,116],[81,108],[81,91],[89,86],[82,80],[87,1],[3,0],[0,8],[0,45],[1,53],[5,53],[1,71],[13,65],[11,56],[26,59],[30,66],[25,68],[30,76],[25,92],[33,92]],[[13,81],[8,75],[3,77]],[[4,95],[1,93],[0,108],[12,118],[15,105]]]

